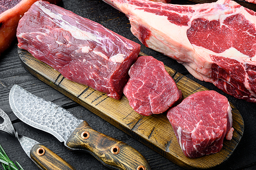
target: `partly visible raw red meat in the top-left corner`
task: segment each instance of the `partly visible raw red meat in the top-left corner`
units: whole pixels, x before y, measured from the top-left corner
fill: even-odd
[[[16,38],[19,19],[38,0],[1,0],[0,3],[0,55]],[[61,0],[46,0],[57,4]]]

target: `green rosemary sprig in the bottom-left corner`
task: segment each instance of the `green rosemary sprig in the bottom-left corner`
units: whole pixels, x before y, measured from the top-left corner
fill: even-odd
[[[17,166],[10,160],[0,144],[0,162],[2,163],[4,170],[19,170]],[[24,170],[22,166],[16,161],[16,164],[21,170]]]

